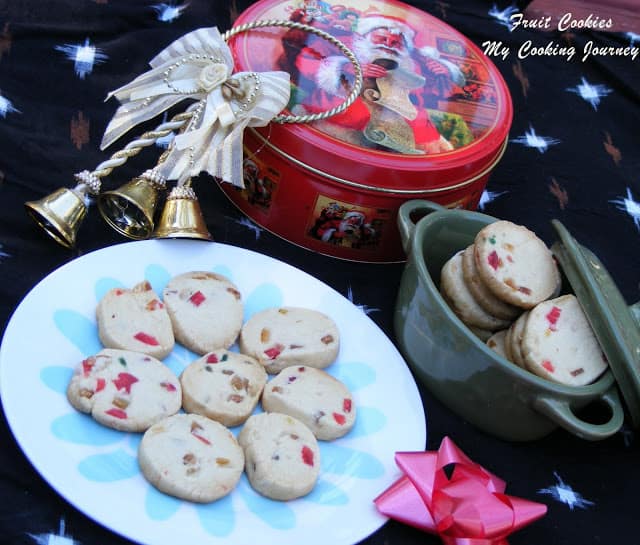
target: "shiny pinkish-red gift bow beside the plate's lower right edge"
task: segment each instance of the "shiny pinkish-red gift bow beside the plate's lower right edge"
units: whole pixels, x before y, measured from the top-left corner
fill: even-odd
[[[504,494],[505,482],[471,461],[448,437],[437,452],[397,452],[404,472],[375,500],[383,514],[446,545],[507,545],[506,537],[547,506]],[[445,468],[453,464],[451,477]]]

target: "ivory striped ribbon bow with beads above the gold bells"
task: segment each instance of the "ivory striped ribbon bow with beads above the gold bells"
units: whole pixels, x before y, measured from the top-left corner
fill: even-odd
[[[264,127],[289,102],[286,72],[232,74],[233,57],[217,28],[185,34],[149,63],[151,70],[112,91],[121,106],[107,126],[101,149],[132,127],[192,99],[194,115],[157,169],[182,185],[203,171],[244,187],[242,135]]]

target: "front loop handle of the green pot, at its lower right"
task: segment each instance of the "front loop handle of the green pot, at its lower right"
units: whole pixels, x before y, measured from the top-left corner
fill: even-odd
[[[546,415],[561,428],[589,441],[599,441],[611,437],[624,422],[624,409],[615,385],[609,388],[597,400],[603,401],[611,409],[611,418],[603,424],[591,424],[578,418],[566,401],[550,398],[537,398],[533,407]]]

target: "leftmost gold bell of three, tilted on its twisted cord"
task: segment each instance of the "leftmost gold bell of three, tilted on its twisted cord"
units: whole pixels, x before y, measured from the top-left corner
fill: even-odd
[[[73,189],[62,187],[40,200],[26,202],[24,206],[51,238],[66,248],[73,248],[78,229],[87,215],[85,190],[84,184]]]

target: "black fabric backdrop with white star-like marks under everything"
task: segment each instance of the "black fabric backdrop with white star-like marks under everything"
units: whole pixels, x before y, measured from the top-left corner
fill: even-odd
[[[616,46],[640,40],[637,35],[582,30],[510,32],[492,15],[509,7],[524,9],[526,2],[408,3],[443,19],[478,45],[500,40],[513,51],[527,39],[540,45],[549,40],[571,41],[578,51],[588,40]],[[21,299],[48,273],[90,251],[124,241],[93,209],[78,235],[77,248],[68,251],[45,237],[23,208],[25,201],[71,186],[75,172],[92,169],[107,158],[98,147],[115,110],[113,101],[104,102],[107,92],[145,71],[150,58],[175,38],[200,26],[225,30],[250,4],[245,0],[190,0],[181,5],[178,17],[163,21],[161,4],[147,0],[0,2],[2,330]],[[600,15],[605,17],[602,9]],[[87,37],[105,58],[97,59],[90,73],[80,78],[73,62],[56,47],[82,44]],[[487,196],[493,198],[483,203],[483,211],[527,225],[549,243],[553,240],[549,222],[560,219],[600,257],[627,301],[637,301],[640,60],[601,56],[567,61],[550,55],[517,59],[512,53],[494,62],[510,88],[514,120],[512,142],[487,186]],[[568,90],[582,78],[610,92],[599,104],[591,104]],[[518,143],[531,127],[558,143],[546,150]],[[119,179],[128,180],[147,168],[148,161],[142,153],[121,167]],[[351,285],[354,301],[379,309],[370,317],[393,339],[391,320],[402,264],[336,261],[267,232],[256,238],[236,222],[241,213],[214,184],[200,189],[198,196],[217,241],[284,260],[345,295]],[[504,478],[508,493],[548,505],[547,515],[514,534],[511,543],[640,543],[636,526],[640,450],[636,432],[628,423],[601,442],[585,442],[558,430],[539,441],[510,443],[473,428],[425,389],[422,394],[427,448],[437,448],[448,435],[471,458]],[[61,520],[65,535],[74,543],[128,542],[61,499],[34,471],[4,419],[0,437],[0,543],[46,543],[42,536],[59,533]],[[573,501],[542,492],[562,484],[565,491],[575,494]],[[396,545],[438,543],[439,539],[390,521],[364,542]]]

